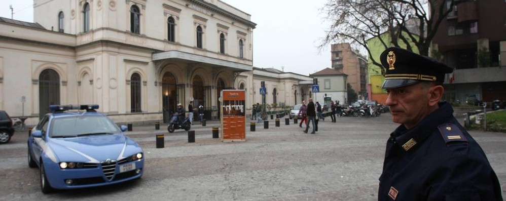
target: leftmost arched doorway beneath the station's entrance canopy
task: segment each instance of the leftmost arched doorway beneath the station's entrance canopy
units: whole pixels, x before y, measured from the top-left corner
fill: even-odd
[[[163,123],[170,122],[170,113],[176,108],[176,79],[170,72],[165,72],[162,77],[162,109]]]

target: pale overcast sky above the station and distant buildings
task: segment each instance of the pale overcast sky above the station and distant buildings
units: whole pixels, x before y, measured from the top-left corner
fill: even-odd
[[[221,0],[251,15],[253,65],[274,67],[303,75],[331,66],[329,47],[318,50],[329,22],[323,20],[321,7],[327,0]],[[33,22],[33,0],[0,0],[0,16]],[[47,27],[46,27],[47,28]]]

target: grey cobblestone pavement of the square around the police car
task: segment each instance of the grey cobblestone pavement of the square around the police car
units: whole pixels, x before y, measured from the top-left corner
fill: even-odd
[[[166,125],[134,126],[127,136],[146,156],[140,180],[45,195],[39,170],[28,168],[26,133],[0,145],[0,200],[376,200],[385,143],[397,126],[380,117],[341,117],[319,123],[315,135],[293,124],[269,129],[246,125],[245,142],[212,139],[212,127],[194,125],[169,134]],[[165,148],[156,135],[165,134]],[[506,197],[506,134],[471,131],[487,153]]]

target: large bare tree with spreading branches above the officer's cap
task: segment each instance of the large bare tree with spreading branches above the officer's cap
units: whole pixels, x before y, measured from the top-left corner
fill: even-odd
[[[368,39],[377,37],[385,49],[405,45],[428,56],[432,38],[454,4],[454,0],[329,0],[323,12],[333,23],[320,49],[350,43],[365,48],[372,63],[381,66],[367,46]]]

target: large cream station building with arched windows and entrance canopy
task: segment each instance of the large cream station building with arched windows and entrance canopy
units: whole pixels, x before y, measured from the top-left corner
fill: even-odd
[[[250,17],[219,0],[35,0],[35,23],[0,19],[0,108],[31,125],[51,104],[116,122],[220,108],[222,89],[252,90]]]

